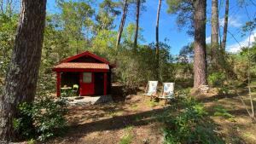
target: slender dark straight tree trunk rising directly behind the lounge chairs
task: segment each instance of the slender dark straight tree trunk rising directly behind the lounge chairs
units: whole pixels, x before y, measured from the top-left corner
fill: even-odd
[[[156,77],[159,78],[159,18],[162,0],[159,0],[158,9],[156,14],[155,26],[155,58],[156,58]]]

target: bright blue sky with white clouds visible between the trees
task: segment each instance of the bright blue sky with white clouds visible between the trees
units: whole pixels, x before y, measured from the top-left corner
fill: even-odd
[[[230,18],[229,18],[229,32],[236,37],[236,40],[240,43],[238,44],[234,37],[231,34],[228,34],[227,37],[227,51],[236,52],[240,49],[241,46],[247,46],[249,34],[244,37],[241,37],[241,26],[249,19],[253,19],[256,15],[256,5],[253,5],[251,2],[255,0],[246,0],[247,7],[241,8],[238,6],[237,0],[230,0]],[[222,3],[220,6],[219,20],[220,25],[224,21],[224,0],[219,0],[219,3]],[[155,19],[156,12],[158,7],[158,0],[147,0],[144,4],[146,10],[142,12],[140,19],[140,27],[143,28],[143,37],[146,42],[143,43],[152,43],[155,41]],[[162,7],[160,11],[160,41],[164,41],[167,38],[168,43],[172,47],[172,55],[177,55],[179,49],[184,45],[193,42],[193,37],[189,37],[186,33],[186,29],[179,31],[176,24],[176,16],[174,14],[167,14],[168,5],[166,0],[163,0]],[[47,10],[49,13],[55,13],[55,0],[48,0]],[[248,14],[248,16],[247,16]],[[211,1],[207,0],[207,19],[211,19]],[[126,24],[129,22],[134,22],[134,16],[129,14],[126,20]],[[119,26],[119,18],[116,21],[117,27]],[[221,30],[222,33],[222,30]],[[211,26],[207,23],[207,43],[210,43],[211,39]],[[253,31],[251,36],[251,41],[253,41],[253,36],[256,37],[256,31]],[[240,46],[241,45],[241,46]]]

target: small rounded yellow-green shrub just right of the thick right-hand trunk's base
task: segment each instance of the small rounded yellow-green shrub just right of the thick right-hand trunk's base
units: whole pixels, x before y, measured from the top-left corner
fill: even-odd
[[[224,80],[226,79],[225,74],[223,72],[213,72],[208,77],[208,83],[212,87],[218,87],[224,84]]]

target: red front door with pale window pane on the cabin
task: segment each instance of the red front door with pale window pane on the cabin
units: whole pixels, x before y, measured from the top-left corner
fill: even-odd
[[[94,73],[81,72],[80,95],[94,95]]]

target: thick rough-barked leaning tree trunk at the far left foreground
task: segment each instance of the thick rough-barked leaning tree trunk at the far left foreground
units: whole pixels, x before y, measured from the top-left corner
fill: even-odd
[[[21,101],[33,101],[38,82],[46,0],[23,0],[15,45],[3,95],[0,96],[0,141],[13,141],[13,120]]]

